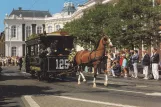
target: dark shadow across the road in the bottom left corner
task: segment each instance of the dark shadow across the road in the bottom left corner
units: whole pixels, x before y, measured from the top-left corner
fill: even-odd
[[[19,107],[19,105],[9,106],[17,103],[10,99],[22,97],[23,95],[61,95],[65,91],[46,92],[51,90],[49,87],[39,86],[18,86],[0,85],[0,107]]]

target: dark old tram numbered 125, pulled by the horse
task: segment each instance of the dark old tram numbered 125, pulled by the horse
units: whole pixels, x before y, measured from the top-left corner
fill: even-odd
[[[73,37],[61,33],[41,34],[26,41],[26,72],[39,80],[70,74],[68,56]]]

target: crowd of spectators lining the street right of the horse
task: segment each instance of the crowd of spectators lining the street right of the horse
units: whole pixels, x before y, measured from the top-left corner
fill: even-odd
[[[144,79],[149,79],[149,74],[155,80],[159,80],[159,53],[156,48],[153,48],[152,54],[149,55],[147,50],[143,50],[142,57],[139,57],[137,50],[120,51],[113,55],[111,52],[107,52],[107,71],[109,75],[113,77],[124,76],[138,78],[138,65],[142,66]],[[140,70],[140,69],[139,69]],[[130,75],[130,72],[132,75]]]

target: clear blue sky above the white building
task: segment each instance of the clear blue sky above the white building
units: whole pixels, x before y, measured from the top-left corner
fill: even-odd
[[[13,9],[22,7],[23,10],[44,10],[51,14],[61,12],[64,2],[73,2],[75,6],[83,4],[87,0],[1,0],[0,6],[0,32],[4,30],[4,18]]]

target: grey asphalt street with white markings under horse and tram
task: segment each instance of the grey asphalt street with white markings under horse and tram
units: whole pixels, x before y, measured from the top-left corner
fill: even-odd
[[[0,77],[0,107],[161,107],[161,80],[109,77],[104,75],[92,87],[92,74],[87,82],[77,79],[55,79],[48,83],[30,78],[18,67],[4,67]]]

